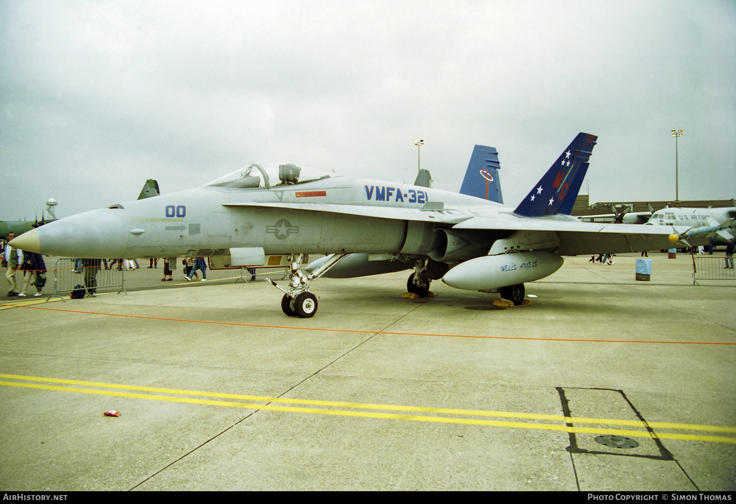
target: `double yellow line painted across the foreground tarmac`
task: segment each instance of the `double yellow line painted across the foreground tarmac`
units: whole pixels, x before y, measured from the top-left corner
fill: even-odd
[[[166,402],[182,402],[196,405],[211,405],[219,407],[240,407],[252,410],[271,410],[271,411],[284,411],[291,413],[311,413],[319,415],[332,415],[332,416],[352,416],[352,417],[363,417],[373,419],[391,419],[391,420],[407,420],[407,421],[428,421],[435,423],[445,424],[467,424],[467,425],[484,425],[490,427],[509,427],[517,429],[533,429],[533,430],[554,430],[559,432],[567,433],[592,433],[592,434],[609,434],[609,435],[622,435],[628,437],[637,438],[653,438],[657,437],[660,439],[677,439],[683,441],[707,441],[712,443],[729,443],[736,444],[736,438],[728,436],[716,436],[716,435],[697,435],[697,434],[682,434],[682,433],[659,433],[652,435],[647,430],[616,430],[616,429],[601,429],[597,427],[575,427],[567,425],[568,423],[573,424],[607,424],[607,425],[622,425],[631,427],[640,427],[645,429],[648,427],[654,428],[665,428],[670,430],[699,430],[704,432],[715,432],[715,433],[736,433],[736,427],[719,427],[714,425],[697,425],[697,424],[675,424],[670,422],[648,422],[644,424],[641,421],[629,421],[619,419],[585,419],[576,417],[565,417],[561,415],[543,415],[537,413],[512,413],[505,411],[486,411],[486,410],[462,410],[456,408],[442,408],[442,407],[417,407],[417,406],[400,406],[400,405],[375,405],[365,403],[354,403],[354,402],[333,402],[333,401],[314,401],[310,399],[281,399],[277,397],[267,396],[250,396],[241,394],[230,394],[230,393],[217,393],[217,392],[202,392],[202,391],[183,391],[179,389],[171,388],[155,388],[155,387],[142,387],[138,385],[117,385],[112,383],[102,382],[84,382],[79,380],[69,379],[57,379],[57,378],[42,378],[42,377],[26,377],[23,375],[15,374],[0,374],[0,378],[3,379],[18,379],[24,380],[25,382],[0,382],[0,386],[7,387],[19,387],[19,388],[35,388],[49,391],[64,391],[74,393],[88,393],[100,396],[116,396],[126,397],[130,399],[147,399],[155,401],[166,401]],[[36,382],[36,383],[27,383]],[[43,383],[59,383],[64,385],[81,385],[87,387],[98,387],[107,389],[118,389],[118,390],[99,390],[97,388],[73,388],[64,387],[60,385],[44,385]],[[125,392],[138,391],[138,392],[155,392],[155,393],[169,393],[174,394],[172,396],[160,396],[152,393],[135,393]],[[194,397],[185,397],[194,396]],[[241,399],[245,401],[256,401],[256,402],[278,402],[283,404],[292,405],[310,405],[310,406],[322,406],[322,407],[341,407],[341,408],[352,408],[352,410],[336,410],[336,409],[324,409],[316,407],[297,407],[297,406],[281,406],[273,404],[255,404],[249,402],[230,402],[220,401],[213,399],[197,399],[197,396],[208,396],[218,397],[222,399]],[[365,410],[378,410],[378,411],[365,411]],[[401,411],[407,413],[434,413],[434,414],[445,414],[445,415],[456,415],[452,416],[423,416],[407,413],[382,413],[384,411]],[[473,419],[466,418],[469,416],[492,416],[498,418],[516,418],[516,419],[536,419],[536,420],[547,420],[547,421],[559,421],[559,424],[536,424],[519,421],[499,421],[499,420],[486,420],[486,419]]]

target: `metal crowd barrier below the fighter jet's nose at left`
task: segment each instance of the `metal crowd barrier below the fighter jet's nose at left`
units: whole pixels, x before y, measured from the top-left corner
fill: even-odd
[[[110,269],[107,269],[105,262],[100,259],[100,266],[91,268],[91,270],[97,270],[93,275],[94,285],[88,286],[85,277],[89,276],[90,268],[82,266],[82,259],[57,259],[54,265],[54,295],[49,296],[46,301],[51,298],[61,298],[64,301],[62,293],[71,293],[79,288],[84,289],[85,295],[87,295],[88,288],[99,290],[119,287],[118,294],[125,293],[123,289],[124,265],[116,263],[115,265],[108,264],[108,266]]]

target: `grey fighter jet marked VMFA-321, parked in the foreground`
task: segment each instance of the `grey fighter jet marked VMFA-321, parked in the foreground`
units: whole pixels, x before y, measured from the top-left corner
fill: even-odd
[[[567,193],[574,200],[597,138],[578,134],[516,209],[469,194],[266,161],[195,189],[66,217],[11,245],[91,258],[230,254],[233,266],[265,265],[266,256],[286,255],[288,285],[269,281],[284,293],[283,312],[302,318],[317,310],[310,282],[350,253],[414,265],[408,290],[420,296],[442,279],[520,304],[524,282],[554,273],[562,256],[669,248],[670,235],[686,231],[570,217]],[[495,169],[481,172],[486,182],[498,177]],[[487,187],[483,193],[487,197]],[[305,273],[302,259],[316,253],[333,255]],[[406,265],[392,270],[402,269]]]

